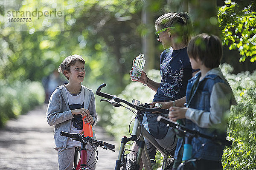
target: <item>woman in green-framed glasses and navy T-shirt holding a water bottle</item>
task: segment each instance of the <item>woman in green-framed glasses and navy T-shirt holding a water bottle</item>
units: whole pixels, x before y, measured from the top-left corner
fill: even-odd
[[[131,80],[141,82],[156,91],[151,107],[154,107],[155,103],[162,104],[162,108],[166,109],[171,106],[183,107],[186,101],[187,82],[195,72],[191,68],[186,51],[186,46],[192,38],[192,21],[186,12],[180,14],[171,12],[157,18],[155,28],[157,40],[166,49],[160,55],[161,82],[149,79],[144,71],[140,80]],[[132,70],[130,75],[131,72]],[[174,132],[165,124],[157,122],[157,115],[146,115],[143,118],[144,127],[154,136],[160,146],[173,153],[177,143]],[[150,158],[154,159],[156,149],[146,140],[145,142]]]

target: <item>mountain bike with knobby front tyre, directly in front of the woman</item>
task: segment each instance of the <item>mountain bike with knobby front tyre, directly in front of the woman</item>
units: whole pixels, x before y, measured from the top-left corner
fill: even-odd
[[[172,167],[172,163],[174,160],[173,156],[166,149],[161,147],[157,143],[157,141],[154,139],[154,137],[151,136],[151,134],[147,130],[145,130],[141,121],[141,116],[145,113],[145,111],[168,114],[169,110],[161,109],[161,108],[146,108],[146,105],[140,104],[140,101],[138,100],[134,99],[132,103],[130,103],[124,99],[118,98],[117,96],[100,92],[101,89],[105,86],[106,86],[105,83],[100,85],[95,94],[110,100],[101,99],[100,101],[109,102],[114,107],[120,107],[120,106],[125,107],[137,115],[136,118],[134,119],[134,127],[131,132],[131,136],[122,137],[118,158],[116,160],[115,170],[120,170],[121,167],[122,167],[122,170],[138,170],[140,168],[140,165],[139,165],[140,160],[142,160],[145,170],[153,170],[151,166],[151,160],[148,156],[148,151],[145,146],[144,137],[145,139],[148,140],[148,142],[150,142],[154,147],[156,147],[157,150],[163,155],[162,170],[168,170],[169,167]],[[130,108],[123,106],[122,104],[120,104],[120,102],[124,103],[125,105],[128,105]],[[135,110],[137,110],[137,113],[133,111],[131,108],[134,108]],[[137,151],[137,154],[131,153],[131,152],[134,152],[131,150],[130,150],[130,153],[125,154],[125,151],[129,151],[125,149],[125,144],[127,144],[130,141],[134,141],[138,145],[139,149]]]

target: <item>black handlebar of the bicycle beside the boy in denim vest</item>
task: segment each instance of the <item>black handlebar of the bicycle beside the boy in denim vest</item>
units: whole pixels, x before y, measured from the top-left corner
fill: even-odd
[[[202,134],[196,130],[191,130],[191,129],[188,129],[186,128],[185,126],[183,125],[180,125],[178,124],[177,122],[174,122],[166,117],[163,117],[163,116],[157,116],[157,121],[161,121],[161,122],[164,122],[166,124],[169,124],[170,126],[174,127],[175,129],[179,130],[181,133],[183,134],[188,134],[189,136],[195,136],[195,137],[203,137],[203,138],[206,138],[206,139],[209,139],[217,144],[222,144],[222,145],[225,145],[227,147],[231,147],[232,145],[232,141],[228,141],[228,140],[223,140],[223,139],[218,139],[217,136],[208,136],[208,135],[205,135],[205,134]]]

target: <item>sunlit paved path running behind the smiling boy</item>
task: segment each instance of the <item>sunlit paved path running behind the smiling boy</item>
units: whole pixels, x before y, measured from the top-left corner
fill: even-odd
[[[46,106],[36,108],[19,119],[10,120],[0,129],[0,170],[58,170],[57,151],[53,149],[53,126],[45,117]],[[102,127],[94,127],[96,138],[116,144]],[[113,170],[118,149],[98,147],[96,170]]]

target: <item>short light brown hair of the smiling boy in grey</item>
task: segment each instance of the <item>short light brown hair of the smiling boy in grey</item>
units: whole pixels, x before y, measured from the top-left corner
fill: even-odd
[[[77,54],[66,57],[63,60],[63,62],[61,62],[61,65],[58,67],[58,72],[62,73],[65,76],[64,70],[67,70],[68,72],[70,72],[70,66],[74,65],[77,61],[85,64],[84,59]],[[68,79],[67,76],[65,76],[65,77]]]

